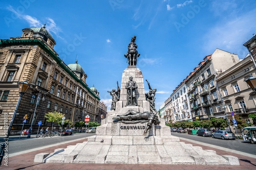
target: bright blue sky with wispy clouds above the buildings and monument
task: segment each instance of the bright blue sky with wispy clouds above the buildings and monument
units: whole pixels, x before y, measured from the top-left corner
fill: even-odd
[[[0,39],[46,23],[59,57],[70,64],[77,56],[87,84],[110,109],[107,91],[121,84],[124,54],[136,35],[137,68],[157,88],[158,110],[216,48],[244,58],[255,14],[255,0],[1,0]]]

